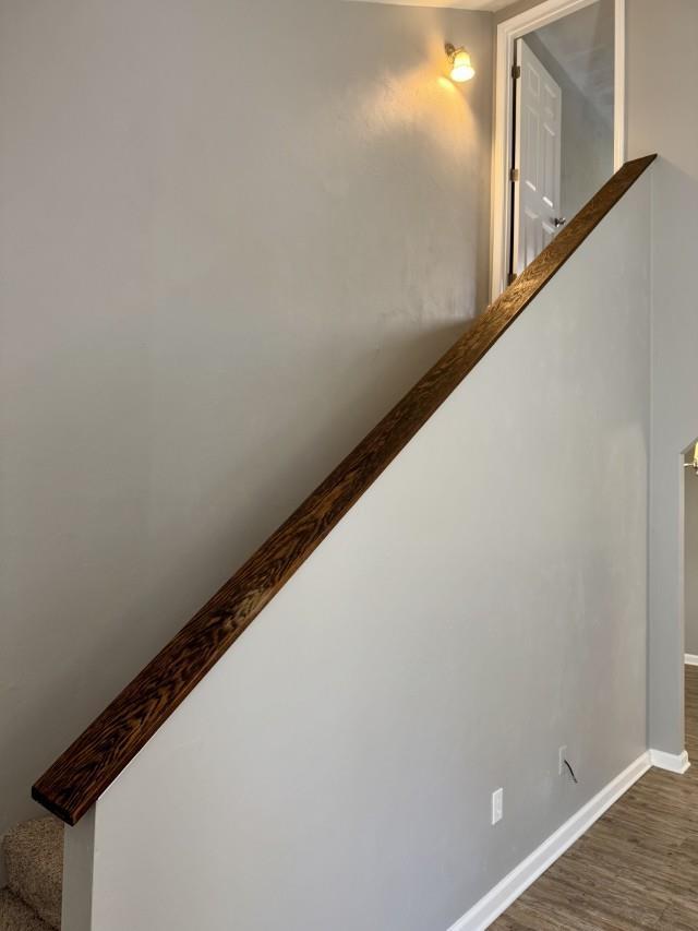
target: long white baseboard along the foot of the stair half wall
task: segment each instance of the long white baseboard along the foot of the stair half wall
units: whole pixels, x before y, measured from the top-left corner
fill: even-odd
[[[588,831],[603,812],[611,808],[630,786],[650,768],[650,753],[630,763],[586,805],[566,821],[541,846],[506,875],[502,882],[476,903],[448,931],[484,931],[541,873],[555,862],[565,850]]]

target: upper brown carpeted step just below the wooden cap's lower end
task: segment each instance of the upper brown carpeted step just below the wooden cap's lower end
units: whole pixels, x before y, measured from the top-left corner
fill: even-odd
[[[60,928],[62,823],[50,816],[17,824],[5,835],[3,849],[10,891],[51,928]]]

